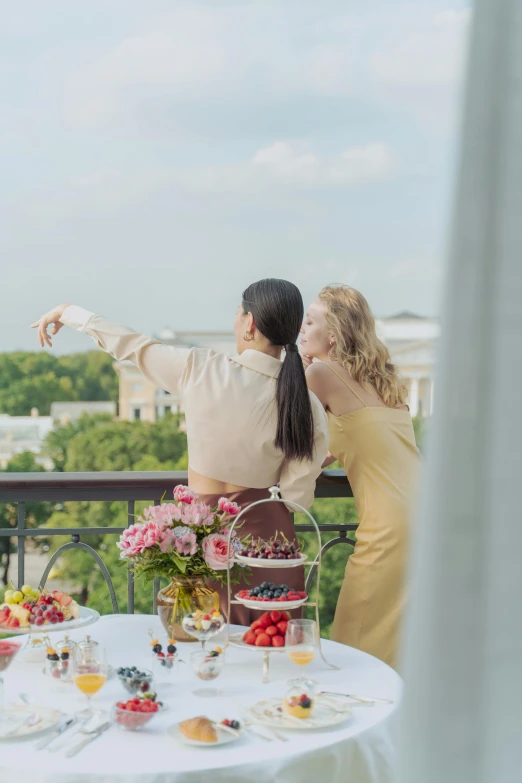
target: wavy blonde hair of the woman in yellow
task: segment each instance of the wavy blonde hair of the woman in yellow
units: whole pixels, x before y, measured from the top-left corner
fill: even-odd
[[[347,285],[327,285],[319,300],[326,306],[326,324],[335,338],[329,358],[364,388],[373,387],[385,405],[404,405],[406,384],[377,337],[375,318],[364,296]]]

